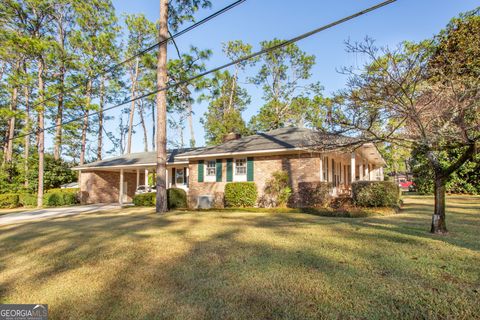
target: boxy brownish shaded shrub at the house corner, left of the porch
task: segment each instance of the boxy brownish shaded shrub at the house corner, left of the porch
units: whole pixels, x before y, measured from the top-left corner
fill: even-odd
[[[330,182],[299,182],[296,205],[299,207],[325,207],[330,203]]]

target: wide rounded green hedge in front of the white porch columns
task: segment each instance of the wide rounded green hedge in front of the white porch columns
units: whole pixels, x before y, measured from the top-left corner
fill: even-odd
[[[352,198],[361,207],[393,207],[400,201],[400,189],[390,181],[355,181]]]

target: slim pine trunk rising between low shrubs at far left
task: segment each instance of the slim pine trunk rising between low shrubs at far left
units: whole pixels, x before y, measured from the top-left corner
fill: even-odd
[[[43,72],[45,66],[43,59],[38,61],[38,99],[44,100],[45,84],[43,82]],[[40,208],[43,206],[43,173],[44,173],[44,157],[45,157],[45,104],[38,106],[38,194],[37,194],[37,206]]]

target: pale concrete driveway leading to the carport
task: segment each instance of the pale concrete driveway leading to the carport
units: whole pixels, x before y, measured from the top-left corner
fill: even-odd
[[[22,212],[7,213],[0,216],[0,225],[17,223],[22,221],[29,221],[29,220],[38,220],[43,218],[66,217],[66,216],[73,216],[80,213],[112,210],[112,209],[119,209],[119,208],[121,208],[119,204],[99,203],[99,204],[89,204],[89,205],[74,206],[74,207],[27,210]]]

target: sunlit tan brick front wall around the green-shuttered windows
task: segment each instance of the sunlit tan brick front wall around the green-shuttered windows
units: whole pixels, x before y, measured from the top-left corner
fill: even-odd
[[[293,193],[298,191],[299,182],[320,181],[320,157],[317,154],[275,155],[254,157],[254,182],[258,189],[258,198],[264,194],[265,185],[272,173],[285,170],[290,176]],[[197,197],[211,195],[216,199],[215,206],[223,206],[223,194],[226,182],[226,159],[222,161],[222,182],[198,182],[198,161],[189,165],[190,181],[188,204],[190,208],[197,205]]]

